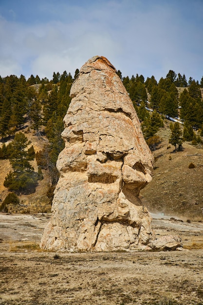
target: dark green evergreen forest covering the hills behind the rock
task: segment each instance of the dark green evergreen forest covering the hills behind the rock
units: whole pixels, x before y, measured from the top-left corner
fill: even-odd
[[[0,77],[0,159],[8,159],[12,166],[4,181],[9,191],[35,192],[37,181],[43,179],[42,170],[46,169],[50,177],[47,196],[52,200],[58,180],[55,164],[64,148],[63,117],[78,73],[78,69],[74,76],[66,71],[61,75],[54,72],[51,80],[33,75],[28,79],[23,75]],[[157,132],[164,127],[164,119],[172,122],[169,142],[175,151],[182,148],[184,141],[193,145],[203,143],[203,78],[200,82],[192,77],[187,80],[185,75],[176,75],[172,70],[159,81],[154,76],[145,80],[138,74],[123,77],[119,70],[117,74],[129,93],[151,150],[161,142]],[[38,139],[46,138],[41,151],[29,147],[23,133],[25,125]],[[37,172],[31,165],[34,158]]]

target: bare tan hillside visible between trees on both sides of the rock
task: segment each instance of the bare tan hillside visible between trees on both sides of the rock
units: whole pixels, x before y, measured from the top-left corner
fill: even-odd
[[[22,130],[31,141],[35,151],[43,148],[46,138],[38,138],[34,131],[27,128]],[[169,121],[165,120],[165,127],[158,132],[162,142],[154,155],[153,179],[141,191],[143,204],[150,212],[162,215],[178,216],[181,219],[203,220],[203,148],[183,143],[183,151],[174,153],[174,147],[168,144],[170,135]],[[2,145],[2,144],[1,144]],[[37,171],[36,159],[33,162]],[[188,165],[194,163],[195,168]],[[3,186],[7,173],[11,170],[9,160],[0,160],[0,200],[3,201],[9,191]],[[49,185],[49,175],[42,170],[44,179],[38,181],[35,193],[19,195],[20,207],[13,208],[12,212],[36,213],[48,212],[51,209],[49,198],[46,195]]]

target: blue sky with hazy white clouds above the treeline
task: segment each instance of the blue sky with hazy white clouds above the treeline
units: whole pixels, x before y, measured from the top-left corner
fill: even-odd
[[[200,82],[203,0],[0,0],[0,76],[74,76],[96,55],[122,76]]]

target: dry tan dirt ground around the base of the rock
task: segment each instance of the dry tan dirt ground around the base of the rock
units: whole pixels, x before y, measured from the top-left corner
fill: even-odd
[[[0,213],[0,305],[203,305],[203,223],[153,216],[184,251],[41,251],[50,214]]]

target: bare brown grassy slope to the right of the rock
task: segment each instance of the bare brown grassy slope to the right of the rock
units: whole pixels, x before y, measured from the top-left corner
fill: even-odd
[[[153,152],[153,179],[140,196],[151,212],[203,220],[203,148],[184,142],[183,150],[174,153],[168,125],[158,132],[163,141]],[[188,168],[191,162],[193,169]]]

